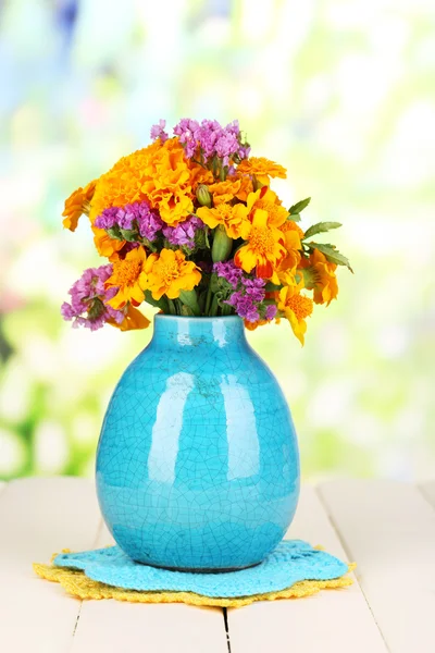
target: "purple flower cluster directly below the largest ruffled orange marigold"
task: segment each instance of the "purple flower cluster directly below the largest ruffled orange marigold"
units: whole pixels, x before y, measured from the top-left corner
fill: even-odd
[[[139,234],[148,241],[154,241],[163,222],[159,212],[151,209],[147,201],[135,201],[125,207],[110,207],[104,209],[95,221],[99,229],[120,229],[132,231],[137,229]]]

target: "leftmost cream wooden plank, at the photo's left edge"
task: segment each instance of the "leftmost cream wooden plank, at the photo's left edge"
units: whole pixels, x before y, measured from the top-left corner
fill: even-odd
[[[88,549],[100,520],[90,481],[23,479],[0,494],[0,651],[66,653],[80,603],[39,579],[33,562]]]

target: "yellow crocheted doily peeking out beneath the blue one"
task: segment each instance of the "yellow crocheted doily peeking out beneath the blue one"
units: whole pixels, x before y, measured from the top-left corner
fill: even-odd
[[[356,565],[349,565],[349,571]],[[300,599],[311,596],[320,590],[346,588],[352,584],[352,579],[341,576],[334,580],[303,580],[291,588],[268,594],[253,594],[252,596],[238,596],[237,599],[213,599],[195,594],[194,592],[138,592],[114,588],[96,580],[91,580],[83,571],[54,567],[53,565],[34,564],[34,569],[40,578],[59,582],[70,594],[77,599],[116,599],[129,603],[188,603],[189,605],[208,605],[213,607],[241,607],[254,601],[275,601],[277,599]]]

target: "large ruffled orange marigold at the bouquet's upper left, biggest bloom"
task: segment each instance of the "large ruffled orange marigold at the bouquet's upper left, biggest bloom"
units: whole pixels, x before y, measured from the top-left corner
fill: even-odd
[[[194,209],[190,170],[177,138],[123,157],[96,185],[90,220],[109,207],[148,200],[167,224],[177,224]]]

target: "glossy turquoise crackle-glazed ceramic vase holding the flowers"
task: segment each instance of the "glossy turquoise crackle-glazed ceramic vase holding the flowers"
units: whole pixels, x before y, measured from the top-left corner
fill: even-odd
[[[297,439],[240,318],[156,316],[110,401],[97,491],[117,544],[148,565],[240,569],[283,539],[299,494]]]

